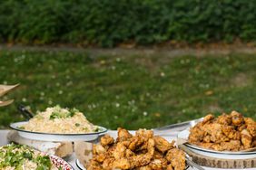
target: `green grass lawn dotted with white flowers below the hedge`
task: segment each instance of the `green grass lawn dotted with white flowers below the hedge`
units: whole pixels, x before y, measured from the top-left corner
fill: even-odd
[[[256,55],[256,54],[255,54]],[[256,56],[91,56],[83,52],[0,52],[0,84],[20,83],[3,99],[0,127],[32,110],[61,105],[115,129],[161,127],[233,109],[256,118]]]

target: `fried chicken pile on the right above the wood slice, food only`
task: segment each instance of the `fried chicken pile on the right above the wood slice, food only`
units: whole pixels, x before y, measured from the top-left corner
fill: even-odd
[[[217,151],[241,151],[256,146],[256,122],[231,111],[214,118],[212,114],[191,128],[189,143]]]

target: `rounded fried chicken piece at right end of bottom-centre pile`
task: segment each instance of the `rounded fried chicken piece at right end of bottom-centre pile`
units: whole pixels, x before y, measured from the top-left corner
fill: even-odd
[[[182,150],[178,148],[172,148],[167,152],[165,158],[172,164],[172,167],[174,167],[175,170],[185,169],[185,153]]]

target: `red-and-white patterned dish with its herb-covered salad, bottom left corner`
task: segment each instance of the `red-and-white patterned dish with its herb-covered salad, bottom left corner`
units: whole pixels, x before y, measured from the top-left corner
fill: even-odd
[[[1,169],[62,169],[74,170],[64,159],[38,151],[30,146],[7,144],[0,146]]]

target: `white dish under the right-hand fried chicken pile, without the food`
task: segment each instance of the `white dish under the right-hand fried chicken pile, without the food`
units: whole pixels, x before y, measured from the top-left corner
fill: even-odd
[[[188,140],[190,135],[189,128],[182,130],[178,134],[178,138],[181,138],[182,140]],[[250,159],[256,157],[256,151],[252,152],[229,152],[229,151],[216,151],[212,149],[206,149],[202,148],[200,146],[191,145],[189,143],[183,144],[188,149],[192,150],[192,152],[196,154],[200,154],[202,156],[210,156],[210,157],[216,157],[216,158],[222,158],[222,159]]]

